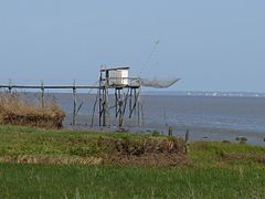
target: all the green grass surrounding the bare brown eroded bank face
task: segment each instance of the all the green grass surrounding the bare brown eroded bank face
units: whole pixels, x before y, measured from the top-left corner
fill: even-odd
[[[0,126],[0,157],[100,156],[93,144],[99,136],[148,137]],[[2,161],[0,198],[264,198],[265,148],[191,143],[188,156],[180,167]]]

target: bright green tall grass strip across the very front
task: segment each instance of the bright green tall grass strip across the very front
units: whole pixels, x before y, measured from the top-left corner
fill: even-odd
[[[265,170],[0,165],[0,198],[262,198]]]

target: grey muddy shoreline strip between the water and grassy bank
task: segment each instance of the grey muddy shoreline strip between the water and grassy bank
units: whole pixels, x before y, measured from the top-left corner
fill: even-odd
[[[87,125],[76,125],[75,127],[71,125],[65,125],[65,129],[72,130],[84,130],[84,132],[107,132],[115,133],[119,130],[117,127],[91,127]],[[150,134],[152,132],[158,132],[161,135],[168,135],[168,129],[157,128],[145,128],[145,127],[125,127],[126,132],[139,133],[139,134]],[[250,130],[235,130],[227,128],[203,128],[203,127],[173,127],[173,136],[184,138],[187,129],[190,133],[191,142],[230,142],[239,143],[239,138],[246,138],[246,144],[253,146],[265,146],[265,135],[257,132]]]

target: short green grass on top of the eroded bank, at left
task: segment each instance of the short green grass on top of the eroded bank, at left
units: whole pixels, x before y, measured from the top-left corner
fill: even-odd
[[[0,126],[0,157],[19,155],[99,156],[99,138],[144,139],[148,135],[87,133],[21,126]]]

